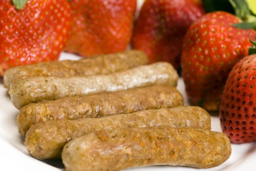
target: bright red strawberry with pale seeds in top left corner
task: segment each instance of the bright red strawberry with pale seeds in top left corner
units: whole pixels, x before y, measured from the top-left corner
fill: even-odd
[[[58,59],[67,41],[71,21],[67,0],[23,1],[25,6],[18,10],[12,0],[0,0],[2,76],[10,67]]]

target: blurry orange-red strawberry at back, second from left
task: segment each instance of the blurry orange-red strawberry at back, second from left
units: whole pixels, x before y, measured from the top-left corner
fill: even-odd
[[[136,5],[136,0],[71,0],[73,22],[65,50],[88,57],[125,50]]]

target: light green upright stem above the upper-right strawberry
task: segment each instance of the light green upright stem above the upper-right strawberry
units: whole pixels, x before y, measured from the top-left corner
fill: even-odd
[[[241,18],[244,21],[247,21],[247,17],[248,15],[251,14],[251,12],[246,0],[229,0],[229,1],[235,10],[236,16]]]

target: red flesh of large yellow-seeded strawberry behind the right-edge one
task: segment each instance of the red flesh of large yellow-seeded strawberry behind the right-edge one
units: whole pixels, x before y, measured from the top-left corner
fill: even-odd
[[[183,43],[183,79],[193,104],[218,110],[232,67],[248,55],[256,32],[230,26],[240,20],[227,12],[204,15],[190,27]]]

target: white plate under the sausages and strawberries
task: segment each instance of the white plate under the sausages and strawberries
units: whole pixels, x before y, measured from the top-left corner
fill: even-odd
[[[62,53],[63,59],[78,59],[77,56]],[[188,99],[182,79],[179,80],[178,89]],[[40,161],[34,159],[26,151],[23,145],[24,138],[17,132],[16,116],[18,110],[12,106],[7,90],[3,88],[3,78],[0,78],[0,171],[61,171],[65,170],[61,160]],[[221,131],[218,113],[212,114],[212,130]],[[232,144],[232,155],[222,165],[205,169],[205,171],[255,171],[256,143],[243,145]],[[130,171],[195,171],[196,168],[152,166],[145,168],[133,168]]]

